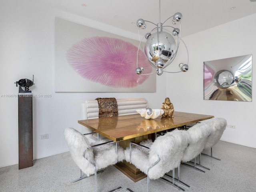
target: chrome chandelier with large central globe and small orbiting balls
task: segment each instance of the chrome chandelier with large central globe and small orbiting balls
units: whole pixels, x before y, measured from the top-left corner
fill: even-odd
[[[160,4],[161,0],[159,0],[159,23],[154,24],[150,21],[146,21],[143,19],[139,19],[137,21],[139,38],[140,38],[140,28],[145,29],[146,24],[145,22],[150,22],[154,24],[156,27],[153,28],[150,32],[148,32],[144,38],[146,39],[146,44],[144,50],[142,48],[142,41],[144,38],[140,38],[140,45],[138,46],[137,52],[137,68],[135,70],[136,74],[142,74],[144,71],[144,67],[138,67],[138,53],[140,48],[144,51],[145,56],[148,58],[149,63],[153,68],[156,69],[155,72],[150,74],[158,74],[162,75],[163,72],[168,72],[165,70],[167,66],[169,66],[176,54],[178,52],[178,48],[180,46],[180,42],[184,44],[187,51],[187,64],[180,63],[179,68],[180,71],[178,72],[186,72],[188,70],[188,48],[184,41],[180,38],[181,34],[181,19],[182,14],[176,13],[173,16],[170,16],[166,19],[163,23],[160,21]],[[174,28],[173,26],[164,26],[164,23],[168,21],[170,18],[173,18],[172,24],[180,23],[180,28]],[[176,40],[175,40],[176,39]],[[168,73],[178,73],[178,72],[168,72]],[[142,74],[142,75],[150,75],[150,74]]]

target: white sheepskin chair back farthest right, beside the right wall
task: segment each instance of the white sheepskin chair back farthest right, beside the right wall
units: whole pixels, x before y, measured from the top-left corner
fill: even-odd
[[[206,124],[213,129],[213,132],[208,136],[204,149],[211,148],[220,140],[224,130],[226,129],[227,121],[224,118],[215,118]]]

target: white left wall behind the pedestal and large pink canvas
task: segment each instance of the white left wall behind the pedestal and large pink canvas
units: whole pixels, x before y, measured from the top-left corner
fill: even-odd
[[[32,80],[34,95],[51,94],[50,98],[33,98],[34,159],[68,151],[63,130],[82,129],[81,103],[97,97],[148,99],[151,108],[159,108],[166,96],[166,76],[157,79],[156,93],[55,93],[54,92],[54,18],[62,18],[90,27],[106,30],[137,40],[137,34],[111,28],[47,8],[32,1],[4,0],[0,6],[0,167],[18,164],[18,98],[4,97],[18,94],[14,82],[21,78]],[[135,70],[135,69],[134,69]],[[160,83],[161,81],[161,83]],[[41,140],[42,134],[49,134]]]

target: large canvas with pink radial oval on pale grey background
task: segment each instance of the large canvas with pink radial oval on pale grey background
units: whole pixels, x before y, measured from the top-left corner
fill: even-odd
[[[55,18],[56,92],[156,92],[156,75],[135,73],[139,41]],[[152,71],[139,50],[138,61]]]

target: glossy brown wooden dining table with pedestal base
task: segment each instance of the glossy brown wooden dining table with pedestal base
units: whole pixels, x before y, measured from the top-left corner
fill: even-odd
[[[214,118],[212,115],[194,114],[187,112],[174,112],[174,118],[159,116],[155,119],[145,119],[140,114],[114,116],[78,120],[78,123],[109,138],[124,149],[131,141],[141,142],[142,140],[155,138],[155,133],[173,128],[182,127],[203,120]],[[123,161],[115,165],[121,172],[134,182],[145,178],[146,175],[129,162]]]

